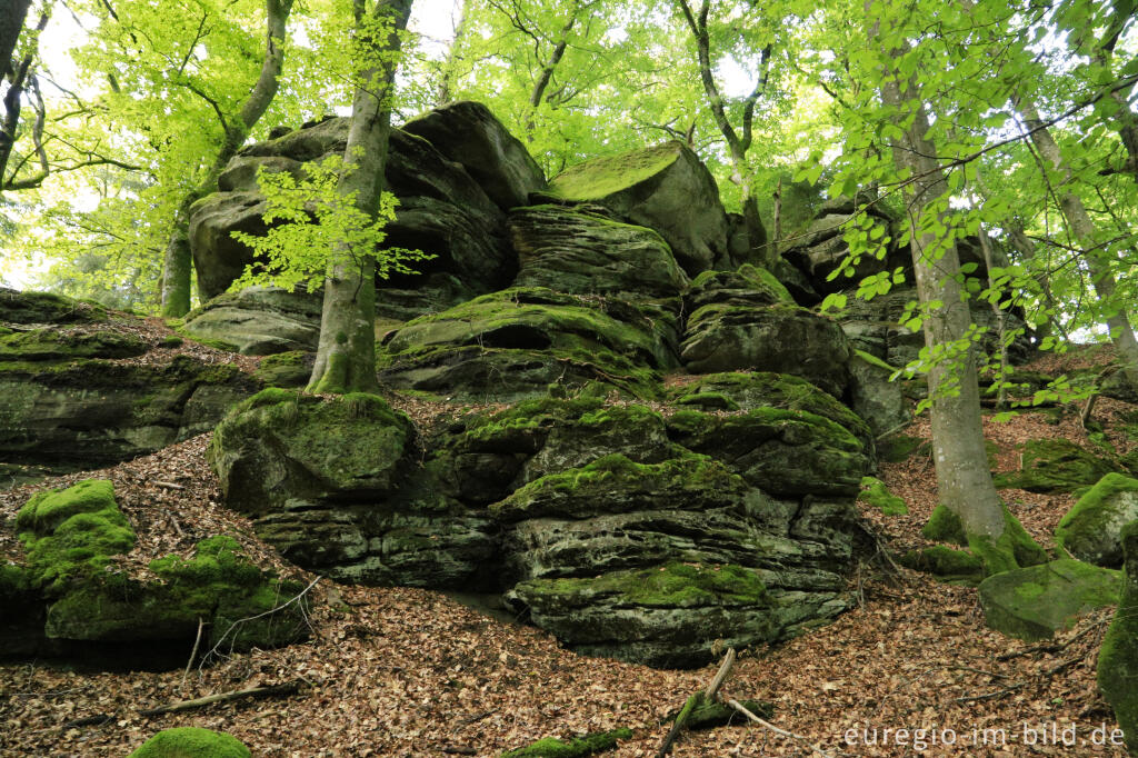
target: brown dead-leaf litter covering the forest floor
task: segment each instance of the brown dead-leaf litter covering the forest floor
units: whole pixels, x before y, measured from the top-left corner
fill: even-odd
[[[1110,428],[1108,418],[1124,407],[1133,406],[1103,401],[1097,413]],[[1017,467],[1015,445],[1024,439],[1085,442],[1078,409],[1067,411],[1057,425],[1039,413],[986,421],[999,446],[998,470]],[[920,419],[907,434],[927,437],[927,421]],[[198,538],[224,532],[262,565],[304,577],[220,504],[204,459],[207,442],[205,435],[110,469],[0,493],[0,521],[10,524],[34,491],[109,477],[139,533],[140,547],[124,559],[132,570],[143,571],[158,551],[188,554]],[[883,517],[863,506],[881,550],[924,544],[920,528],[935,503],[931,461],[917,455],[884,464],[881,478],[910,511]],[[1003,494],[1032,536],[1053,546],[1050,535],[1073,499]],[[0,539],[0,560],[18,550],[10,537]],[[740,719],[685,733],[671,755],[1125,755],[1095,744],[1104,734],[1110,742],[1116,728],[1095,684],[1113,609],[1085,617],[1053,641],[1028,644],[984,626],[974,588],[892,569],[881,555],[855,571],[850,590],[858,600],[853,610],[782,645],[743,651],[723,690],[770,701],[770,722],[798,738]],[[654,670],[578,656],[544,632],[495,620],[436,592],[321,580],[312,600],[308,643],[222,656],[190,670],[184,682],[182,670],[0,665],[0,755],[124,756],[162,728],[201,726],[233,734],[254,756],[496,756],[544,736],[627,726],[633,739],[604,755],[654,756],[667,715],[716,670]],[[289,697],[154,717],[139,712],[294,681],[303,689]],[[91,717],[105,718],[71,725]],[[1063,744],[1072,735],[1077,744]]]

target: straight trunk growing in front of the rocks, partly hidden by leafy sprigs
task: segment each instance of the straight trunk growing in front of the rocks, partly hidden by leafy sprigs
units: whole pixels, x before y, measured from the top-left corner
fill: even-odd
[[[399,32],[406,28],[412,0],[377,0],[370,11],[356,1],[356,27],[384,19],[393,26],[370,40],[368,60],[357,61],[358,83],[352,104],[352,125],[344,151],[345,172],[338,190],[354,197],[357,208],[374,216],[384,193],[388,137],[391,131],[391,84],[395,81]],[[364,15],[370,18],[364,18]],[[376,381],[376,264],[343,249],[324,277],[320,345],[308,392],[344,394],[371,392]]]

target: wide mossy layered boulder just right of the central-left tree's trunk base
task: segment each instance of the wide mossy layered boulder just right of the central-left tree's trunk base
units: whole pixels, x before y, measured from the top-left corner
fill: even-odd
[[[379,348],[380,377],[394,387],[478,402],[596,380],[652,397],[659,372],[677,364],[676,323],[667,303],[509,289],[388,335]]]

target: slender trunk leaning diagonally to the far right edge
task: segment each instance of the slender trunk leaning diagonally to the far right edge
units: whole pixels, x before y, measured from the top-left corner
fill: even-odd
[[[1031,142],[1039,150],[1045,160],[1052,164],[1065,179],[1070,180],[1071,168],[1063,162],[1059,146],[1052,137],[1050,130],[1042,126],[1039,110],[1034,104],[1019,98],[1016,107],[1023,114],[1024,123],[1031,131]],[[1067,220],[1074,238],[1086,247],[1083,259],[1087,262],[1087,270],[1090,271],[1091,283],[1098,299],[1106,304],[1106,326],[1111,330],[1111,341],[1114,344],[1122,363],[1122,372],[1131,387],[1138,388],[1138,339],[1135,338],[1133,328],[1130,326],[1130,318],[1127,313],[1125,303],[1119,303],[1116,296],[1118,282],[1114,279],[1114,271],[1111,262],[1098,249],[1095,222],[1087,213],[1082,199],[1072,190],[1059,190],[1059,208]]]

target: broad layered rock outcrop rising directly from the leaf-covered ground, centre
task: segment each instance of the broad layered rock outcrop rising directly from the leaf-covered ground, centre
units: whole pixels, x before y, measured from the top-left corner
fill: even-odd
[[[226,502],[302,566],[502,592],[583,652],[701,665],[716,638],[780,640],[848,601],[872,454],[828,418],[762,405],[762,381],[736,381],[752,407],[736,414],[546,396],[468,415],[418,448],[379,398],[353,415],[362,397],[266,390],[221,425],[211,454]],[[353,439],[393,444],[312,452],[328,419],[348,417]]]

